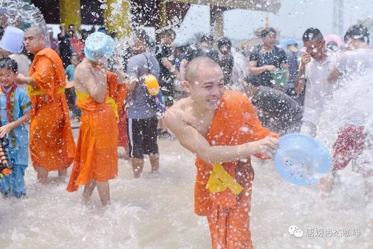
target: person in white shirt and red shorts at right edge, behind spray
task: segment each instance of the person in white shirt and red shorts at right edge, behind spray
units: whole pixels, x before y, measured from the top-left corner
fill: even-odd
[[[351,37],[350,46],[353,50],[345,51],[336,60],[328,81],[331,83],[342,80],[351,84],[351,80],[364,75],[368,69],[373,69],[373,49],[369,47],[369,31],[364,25],[354,25],[346,33]],[[365,194],[368,200],[373,200],[373,168],[370,158],[373,151],[373,134],[365,129],[368,116],[372,110],[352,110],[344,127],[339,131],[333,145],[333,169],[330,175],[320,180],[321,189],[330,192],[336,178],[336,172],[344,169],[352,159],[357,159],[354,170],[362,173],[365,178]],[[371,153],[371,155],[369,154]]]

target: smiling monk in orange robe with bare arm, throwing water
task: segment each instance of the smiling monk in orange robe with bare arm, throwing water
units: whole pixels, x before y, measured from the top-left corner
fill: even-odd
[[[189,97],[174,104],[165,121],[197,156],[195,213],[207,217],[214,249],[252,248],[250,156],[272,157],[278,136],[261,126],[247,97],[225,91],[222,69],[211,59],[193,59],[182,84]]]

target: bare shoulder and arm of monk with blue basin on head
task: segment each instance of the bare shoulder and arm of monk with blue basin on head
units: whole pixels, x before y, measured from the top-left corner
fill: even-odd
[[[98,103],[103,103],[107,88],[107,80],[104,73],[95,73],[94,69],[77,68],[74,81],[82,86],[86,92]]]

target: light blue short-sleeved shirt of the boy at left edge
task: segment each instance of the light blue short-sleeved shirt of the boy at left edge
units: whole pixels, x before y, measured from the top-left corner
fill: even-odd
[[[9,91],[10,88],[5,91]],[[0,115],[1,125],[9,124],[6,117],[6,95],[1,92],[0,97]],[[31,101],[27,93],[20,87],[17,87],[10,95],[10,109],[9,118],[10,122],[21,118],[25,112],[31,110]],[[21,147],[28,144],[28,132],[24,124],[15,127],[8,134],[9,147]]]

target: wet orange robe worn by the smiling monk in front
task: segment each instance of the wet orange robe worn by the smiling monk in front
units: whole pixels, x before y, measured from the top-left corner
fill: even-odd
[[[249,99],[239,92],[226,91],[206,138],[211,145],[238,145],[267,135],[278,137],[261,126]],[[262,155],[255,156],[266,159]],[[213,249],[252,248],[249,212],[254,172],[250,158],[246,160],[223,163],[225,170],[244,187],[236,197],[229,189],[211,193],[206,184],[213,169],[212,164],[196,158],[194,207],[197,215],[207,216]]]

